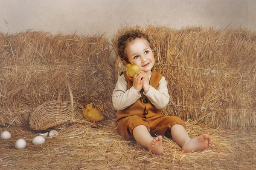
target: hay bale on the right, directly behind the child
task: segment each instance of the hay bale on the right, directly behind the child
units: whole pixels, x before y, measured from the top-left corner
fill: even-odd
[[[165,115],[207,125],[256,127],[256,34],[243,29],[213,30],[161,26],[126,27],[112,39],[139,29],[151,37],[154,70],[168,81]],[[115,81],[126,68],[116,59]]]

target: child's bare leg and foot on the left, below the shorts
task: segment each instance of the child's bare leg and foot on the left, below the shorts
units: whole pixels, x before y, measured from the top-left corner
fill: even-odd
[[[152,136],[148,132],[147,127],[145,127],[144,125],[136,126],[132,133],[135,140],[140,145],[142,145],[143,147],[147,147],[149,150],[152,151],[152,153],[156,155],[163,155],[162,136],[152,138]]]

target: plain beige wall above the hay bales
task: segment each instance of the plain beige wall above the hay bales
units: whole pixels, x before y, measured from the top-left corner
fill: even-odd
[[[8,23],[9,30],[6,26]],[[256,31],[256,0],[0,0],[0,31],[104,34],[147,23]]]

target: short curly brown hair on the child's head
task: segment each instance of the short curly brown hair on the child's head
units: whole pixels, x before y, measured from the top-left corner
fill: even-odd
[[[119,37],[116,43],[118,55],[122,60],[125,60],[128,62],[128,58],[125,53],[125,48],[127,47],[128,43],[131,42],[132,40],[135,40],[135,38],[145,38],[149,42],[150,48],[152,49],[152,45],[150,43],[148,34],[145,34],[140,30],[127,31],[123,33],[121,37]]]

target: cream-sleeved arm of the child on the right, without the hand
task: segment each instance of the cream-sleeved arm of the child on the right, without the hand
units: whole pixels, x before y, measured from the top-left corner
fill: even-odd
[[[145,96],[148,97],[149,101],[157,109],[162,109],[166,107],[166,105],[169,103],[170,95],[167,89],[167,81],[165,77],[162,77],[157,89],[150,86],[147,93],[144,93],[144,94]]]

